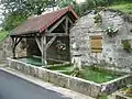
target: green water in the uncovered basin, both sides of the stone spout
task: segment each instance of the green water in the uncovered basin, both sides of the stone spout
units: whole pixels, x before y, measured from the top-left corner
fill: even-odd
[[[73,74],[73,66],[51,67],[48,69],[64,70],[61,73],[66,74],[66,75]],[[121,75],[114,74],[112,72],[107,72],[107,70],[101,70],[101,69],[92,69],[92,68],[87,67],[87,68],[84,68],[82,70],[80,70],[79,75],[77,77],[101,84],[101,82],[106,82],[106,81],[116,79],[120,76]]]

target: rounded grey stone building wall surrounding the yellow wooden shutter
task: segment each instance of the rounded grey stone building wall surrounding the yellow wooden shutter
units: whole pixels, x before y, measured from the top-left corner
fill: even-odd
[[[79,53],[84,65],[91,65],[95,62],[109,64],[109,67],[116,67],[118,70],[131,72],[132,55],[123,50],[122,40],[132,40],[132,23],[124,20],[123,14],[114,11],[101,11],[102,23],[100,25],[94,22],[94,12],[81,16],[70,30],[70,46],[74,42],[79,45]],[[103,30],[108,26],[118,28],[116,36],[109,37]],[[91,35],[102,36],[102,53],[90,52]],[[73,50],[70,53],[73,55]],[[107,66],[107,65],[106,65]]]

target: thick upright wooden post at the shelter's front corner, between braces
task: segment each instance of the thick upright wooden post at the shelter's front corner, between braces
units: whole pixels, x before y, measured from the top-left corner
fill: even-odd
[[[47,62],[46,62],[46,36],[44,34],[42,35],[41,42],[42,42],[42,65],[46,66],[47,65]]]

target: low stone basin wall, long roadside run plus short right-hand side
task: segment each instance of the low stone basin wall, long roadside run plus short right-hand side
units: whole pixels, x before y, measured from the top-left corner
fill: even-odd
[[[127,86],[130,82],[129,79],[132,78],[132,76],[127,75],[108,82],[96,84],[94,81],[67,76],[46,68],[36,67],[16,59],[8,58],[8,63],[9,67],[13,69],[94,98],[98,97],[102,92],[112,94],[113,91]]]

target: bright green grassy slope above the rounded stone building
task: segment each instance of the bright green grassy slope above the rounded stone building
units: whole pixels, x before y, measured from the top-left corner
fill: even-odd
[[[113,4],[111,7],[109,7],[110,9],[114,9],[114,10],[119,10],[122,11],[127,14],[132,15],[132,3],[118,3],[118,4]]]

